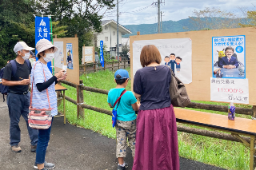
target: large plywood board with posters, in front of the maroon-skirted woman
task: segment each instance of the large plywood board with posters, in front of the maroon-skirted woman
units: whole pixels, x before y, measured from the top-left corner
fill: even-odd
[[[212,38],[245,35],[246,78],[249,81],[249,105],[256,105],[256,29],[238,28],[226,30],[201,30],[169,34],[130,36],[130,76],[133,83],[133,42],[141,40],[190,38],[192,40],[192,83],[186,85],[191,100],[210,101],[210,77],[212,77]],[[140,65],[140,63],[135,63]]]

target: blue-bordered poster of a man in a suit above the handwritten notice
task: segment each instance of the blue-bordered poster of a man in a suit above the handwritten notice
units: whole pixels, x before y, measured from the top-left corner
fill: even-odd
[[[246,78],[246,36],[212,38],[212,72],[217,78]]]

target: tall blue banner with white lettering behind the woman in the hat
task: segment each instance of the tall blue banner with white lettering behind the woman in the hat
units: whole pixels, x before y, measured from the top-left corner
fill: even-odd
[[[38,41],[41,39],[46,39],[50,41],[50,18],[49,17],[35,18],[35,44],[37,44]],[[35,54],[37,53],[38,51],[35,50]],[[50,73],[52,73],[51,61],[47,63],[47,66],[50,69]]]

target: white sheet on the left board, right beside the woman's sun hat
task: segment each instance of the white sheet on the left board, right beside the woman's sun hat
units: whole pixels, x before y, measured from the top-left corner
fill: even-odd
[[[63,42],[54,42],[54,46],[58,48],[54,53],[54,67],[62,69],[62,65],[64,65]]]

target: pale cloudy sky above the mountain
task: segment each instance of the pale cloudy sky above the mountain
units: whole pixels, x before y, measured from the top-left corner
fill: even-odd
[[[119,23],[122,25],[152,24],[158,22],[157,6],[150,6],[158,0],[119,0]],[[162,21],[178,21],[193,15],[194,10],[218,7],[221,10],[243,16],[243,10],[256,10],[256,0],[162,0]],[[116,3],[116,0],[115,0]],[[105,14],[103,19],[116,18],[116,8]]]

